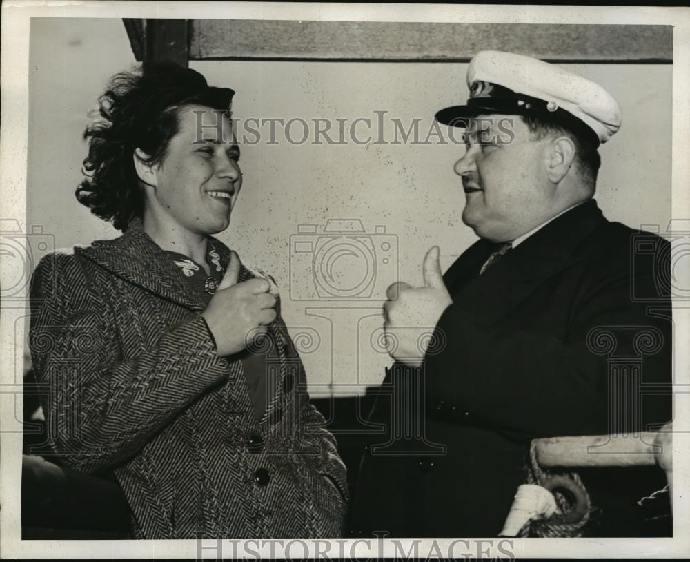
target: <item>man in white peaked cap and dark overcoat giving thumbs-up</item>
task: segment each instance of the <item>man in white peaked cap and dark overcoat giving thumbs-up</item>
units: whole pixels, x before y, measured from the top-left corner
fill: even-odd
[[[371,420],[389,432],[364,455],[355,534],[496,536],[533,438],[655,429],[671,417],[667,394],[640,387],[671,379],[668,269],[631,254],[635,237],[657,257],[668,245],[609,222],[593,200],[597,148],[621,123],[615,99],[506,52],[480,52],[467,82],[468,104],[436,118],[466,128],[455,172],[462,220],[480,240],[443,276],[432,248],[424,287],[388,289],[396,363]],[[621,358],[639,359],[641,379],[610,368]],[[657,489],[649,478],[663,487],[660,470],[580,474],[598,508],[586,534],[644,532],[635,501]]]

